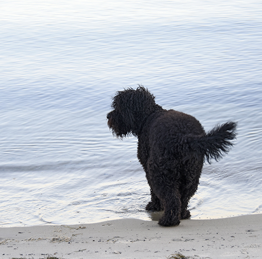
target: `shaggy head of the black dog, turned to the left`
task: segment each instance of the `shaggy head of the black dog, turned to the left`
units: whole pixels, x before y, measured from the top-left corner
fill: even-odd
[[[162,109],[156,105],[155,97],[148,89],[139,86],[116,92],[112,98],[112,111],[107,114],[107,124],[116,137],[129,134],[139,136],[150,114]]]

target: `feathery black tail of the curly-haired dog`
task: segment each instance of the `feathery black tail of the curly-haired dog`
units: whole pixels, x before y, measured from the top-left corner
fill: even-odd
[[[227,122],[221,126],[218,125],[205,135],[189,136],[187,139],[191,150],[189,153],[194,157],[204,155],[208,163],[213,158],[218,161],[222,158],[223,153],[227,153],[233,145],[231,140],[236,138],[236,125],[235,122]]]

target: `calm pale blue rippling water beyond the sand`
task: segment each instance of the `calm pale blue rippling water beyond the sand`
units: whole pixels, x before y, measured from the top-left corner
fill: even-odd
[[[192,219],[261,213],[262,2],[56,3],[0,4],[0,226],[159,218],[137,139],[106,124],[111,96],[137,84],[206,130],[238,121]]]

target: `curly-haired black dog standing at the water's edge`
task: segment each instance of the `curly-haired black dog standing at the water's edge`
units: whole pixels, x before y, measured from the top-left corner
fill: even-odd
[[[205,158],[216,161],[236,136],[236,123],[227,122],[206,133],[194,117],[164,110],[143,86],[127,88],[113,97],[107,114],[116,137],[138,137],[138,159],[151,189],[149,211],[164,210],[162,226],[190,218],[189,199],[197,191]]]

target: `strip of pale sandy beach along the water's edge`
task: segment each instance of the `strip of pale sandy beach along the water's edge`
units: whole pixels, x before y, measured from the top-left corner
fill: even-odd
[[[262,258],[262,214],[183,220],[178,227],[121,219],[0,228],[0,258]]]

